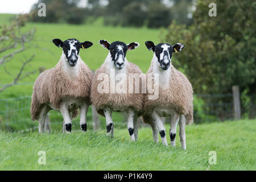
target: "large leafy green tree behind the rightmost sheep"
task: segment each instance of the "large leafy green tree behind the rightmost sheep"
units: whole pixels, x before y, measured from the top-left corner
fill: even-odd
[[[216,3],[217,17],[208,16],[209,3]],[[186,28],[173,22],[164,41],[185,44],[174,64],[183,68],[196,93],[256,91],[256,2],[198,1],[194,23]]]

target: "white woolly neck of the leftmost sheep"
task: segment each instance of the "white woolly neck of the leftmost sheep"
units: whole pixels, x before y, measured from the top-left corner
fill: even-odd
[[[62,61],[61,64],[63,65],[63,70],[69,78],[74,78],[79,76],[79,66],[81,61],[80,56],[79,56],[79,59],[77,60],[77,64],[75,65],[75,67],[71,67],[68,64],[67,58],[65,57],[64,53],[62,53],[61,55],[61,61]]]

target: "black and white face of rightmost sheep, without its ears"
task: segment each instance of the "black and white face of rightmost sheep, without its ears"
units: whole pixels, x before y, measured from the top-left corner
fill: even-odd
[[[159,65],[163,70],[167,70],[170,67],[172,52],[174,52],[174,48],[170,44],[160,43],[155,46],[155,56],[158,58]]]

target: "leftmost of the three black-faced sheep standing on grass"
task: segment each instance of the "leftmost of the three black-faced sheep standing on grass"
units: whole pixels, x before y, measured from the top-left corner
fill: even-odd
[[[63,48],[59,63],[54,68],[41,73],[34,83],[31,118],[39,122],[39,133],[47,130],[46,117],[49,110],[60,111],[63,116],[63,132],[71,132],[72,119],[80,109],[80,127],[86,131],[86,114],[90,105],[90,85],[92,71],[79,56],[80,48],[89,48],[93,43],[80,43],[76,39],[64,42],[53,39],[57,47]],[[47,119],[48,120],[48,119]]]

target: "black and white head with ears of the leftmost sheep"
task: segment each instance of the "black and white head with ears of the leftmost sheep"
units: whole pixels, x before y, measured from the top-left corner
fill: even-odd
[[[65,58],[71,67],[75,67],[77,63],[77,60],[79,58],[80,48],[85,49],[93,45],[93,43],[89,41],[80,43],[79,40],[76,40],[76,39],[68,39],[68,40],[65,40],[64,42],[61,41],[60,39],[53,39],[52,42],[57,47],[63,48],[63,54],[65,55]]]

